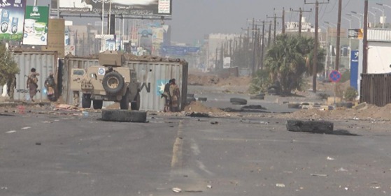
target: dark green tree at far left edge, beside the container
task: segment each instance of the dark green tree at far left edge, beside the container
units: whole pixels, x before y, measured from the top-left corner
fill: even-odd
[[[0,43],[0,85],[7,84],[10,89],[9,96],[13,100],[13,89],[16,86],[15,75],[20,72],[12,53],[7,50],[6,45]]]

